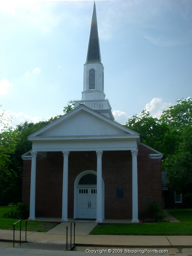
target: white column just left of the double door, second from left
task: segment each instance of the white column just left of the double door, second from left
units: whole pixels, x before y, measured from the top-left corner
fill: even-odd
[[[67,218],[68,211],[68,157],[70,151],[63,151],[63,197],[62,197],[62,218],[61,221],[69,221]]]

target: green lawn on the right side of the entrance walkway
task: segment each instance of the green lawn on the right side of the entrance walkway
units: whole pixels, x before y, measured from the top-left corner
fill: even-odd
[[[192,236],[192,209],[167,210],[181,222],[99,225],[91,235]]]

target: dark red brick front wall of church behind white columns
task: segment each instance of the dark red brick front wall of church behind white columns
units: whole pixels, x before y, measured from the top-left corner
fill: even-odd
[[[139,218],[147,212],[151,201],[161,204],[161,160],[151,159],[150,148],[138,148],[138,211]],[[68,218],[73,218],[74,182],[84,170],[96,171],[95,151],[70,152],[68,180]],[[23,161],[22,200],[29,204],[31,160]],[[103,151],[102,176],[105,183],[105,218],[132,218],[132,156],[131,151]],[[62,152],[38,154],[36,166],[36,216],[61,218],[63,155]],[[124,190],[117,198],[116,189]]]

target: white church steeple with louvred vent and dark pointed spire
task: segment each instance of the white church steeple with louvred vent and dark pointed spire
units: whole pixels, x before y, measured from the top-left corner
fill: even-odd
[[[90,27],[90,37],[87,50],[87,60],[84,64],[84,86],[82,100],[75,101],[75,107],[84,104],[93,110],[102,113],[114,120],[111,106],[104,93],[104,67],[101,62],[99,34],[97,28],[96,7],[93,6],[93,15]]]

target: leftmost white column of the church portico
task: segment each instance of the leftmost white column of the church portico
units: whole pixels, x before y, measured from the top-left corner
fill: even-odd
[[[37,152],[31,151],[31,187],[30,187],[30,211],[29,221],[35,221],[35,187],[36,187],[36,158]]]

